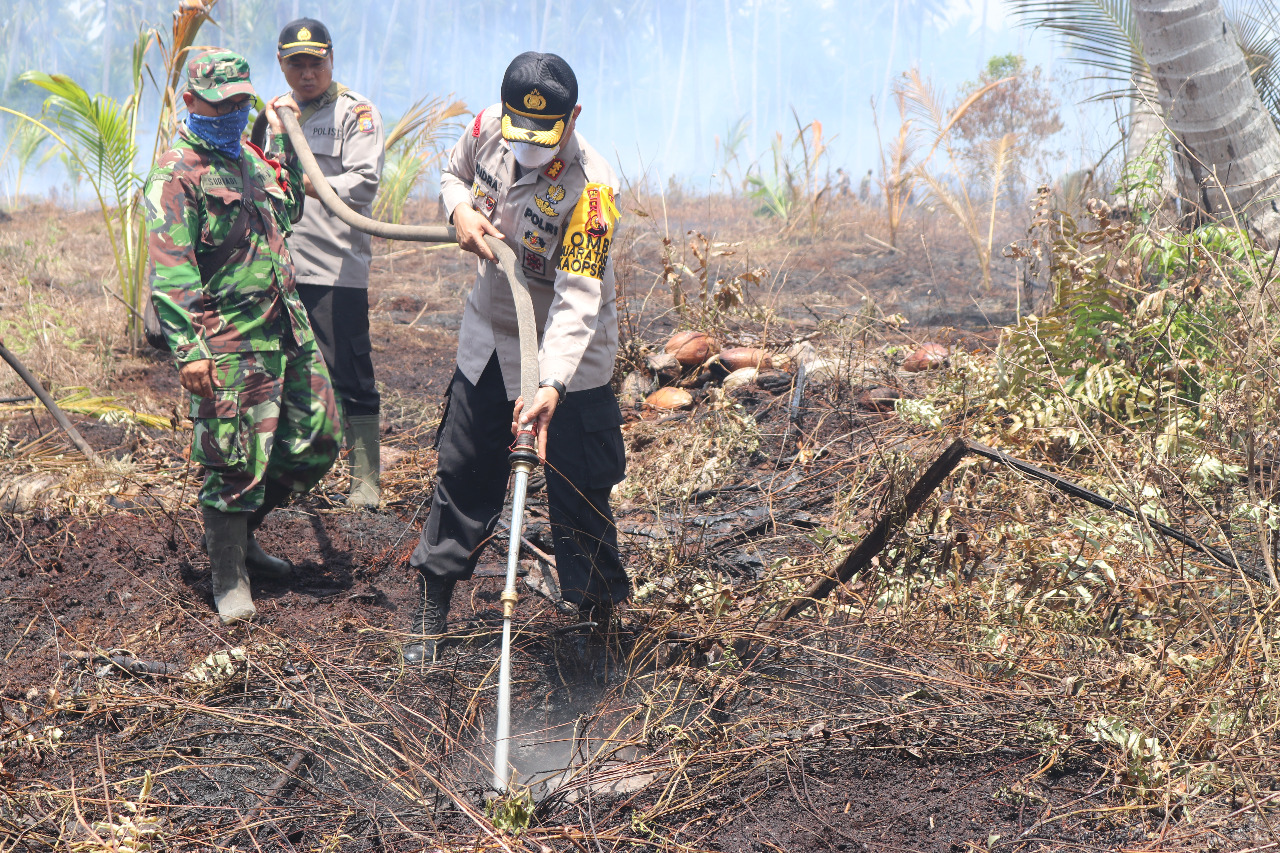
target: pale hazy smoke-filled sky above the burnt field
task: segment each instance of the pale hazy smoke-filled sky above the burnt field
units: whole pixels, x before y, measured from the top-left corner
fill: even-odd
[[[64,14],[51,12],[56,5]],[[31,87],[13,82],[26,68],[123,93],[132,33],[145,20],[166,23],[172,8],[161,0],[0,0],[0,50],[12,47],[0,55],[0,82],[8,82],[0,97],[38,104],[22,91]],[[278,93],[275,37],[294,14],[330,26],[335,77],[388,118],[420,95],[452,92],[484,108],[498,100],[517,53],[558,53],[577,73],[579,127],[593,145],[627,175],[648,169],[664,182],[675,173],[699,188],[721,163],[717,137],[739,120],[746,128],[740,163],[772,163],[774,134],[795,137],[792,109],[801,123],[822,122],[832,170],[878,167],[870,102],[882,104],[882,128],[892,133],[896,111],[882,99],[911,65],[951,93],[996,54],[1019,53],[1060,78],[1079,77],[1055,61],[1046,36],[1014,27],[1001,0],[223,0],[219,27],[200,41],[244,53],[260,92]],[[1071,101],[1083,95],[1064,92],[1064,147],[1105,149],[1110,142],[1089,137],[1112,129],[1093,127],[1097,118],[1073,119]],[[1074,167],[1078,158],[1070,159]]]

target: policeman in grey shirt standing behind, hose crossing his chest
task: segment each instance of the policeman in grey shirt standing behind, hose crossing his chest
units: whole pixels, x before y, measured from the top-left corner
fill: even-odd
[[[334,192],[371,215],[383,173],[383,118],[369,100],[333,79],[329,29],[301,18],[280,31],[280,70],[301,110],[300,124]],[[308,196],[315,196],[306,179]],[[379,410],[369,339],[370,237],[344,225],[320,204],[306,205],[289,250],[298,295],[333,377],[351,447],[351,503],[379,500]]]

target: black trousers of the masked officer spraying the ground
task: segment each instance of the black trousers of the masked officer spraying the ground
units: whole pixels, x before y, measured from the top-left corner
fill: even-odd
[[[431,515],[410,565],[430,578],[465,580],[498,524],[511,475],[511,415],[494,355],[480,382],[454,370],[436,439]],[[622,480],[622,412],[608,386],[572,391],[547,435],[547,503],[561,593],[575,605],[625,601],[631,581],[618,556],[609,491]]]

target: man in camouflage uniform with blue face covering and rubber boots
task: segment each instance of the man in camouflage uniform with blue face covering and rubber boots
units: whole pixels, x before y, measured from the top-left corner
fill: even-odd
[[[232,624],[255,613],[248,571],[279,579],[292,570],[262,552],[253,530],[324,476],[340,430],[284,243],[302,172],[275,109],[296,106],[288,97],[266,106],[276,131],[268,156],[241,141],[253,96],[242,56],[207,50],[187,77],[187,126],[145,188],[151,300],[192,394],[214,602]]]

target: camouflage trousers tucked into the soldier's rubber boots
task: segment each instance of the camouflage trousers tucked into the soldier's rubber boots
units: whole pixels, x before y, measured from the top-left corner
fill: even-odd
[[[274,480],[306,492],[338,459],[342,426],[315,343],[214,356],[214,397],[191,398],[191,461],[205,466],[204,506],[252,512]]]

